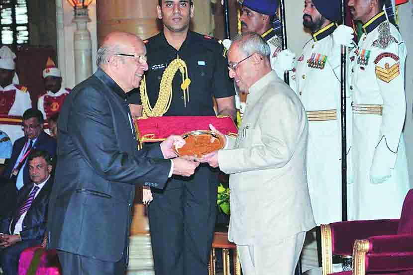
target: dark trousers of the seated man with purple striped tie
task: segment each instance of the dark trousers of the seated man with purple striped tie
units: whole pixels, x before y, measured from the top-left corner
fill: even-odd
[[[17,275],[20,254],[28,247],[39,245],[42,240],[25,240],[0,250],[0,267],[3,275]]]

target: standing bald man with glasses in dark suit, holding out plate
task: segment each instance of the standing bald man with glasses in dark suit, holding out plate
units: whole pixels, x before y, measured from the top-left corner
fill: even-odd
[[[70,275],[123,274],[134,184],[163,188],[173,174],[191,176],[199,165],[174,158],[172,147],[185,143],[181,136],[137,150],[126,93],[148,69],[142,41],[112,32],[97,60],[97,72],[66,97],[57,126],[48,248],[58,250],[63,274]]]

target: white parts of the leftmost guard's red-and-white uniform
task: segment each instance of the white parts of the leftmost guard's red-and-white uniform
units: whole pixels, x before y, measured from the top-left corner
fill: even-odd
[[[15,84],[10,84],[5,88],[0,86],[0,91],[15,90],[14,102],[8,111],[8,115],[22,116],[25,110],[31,108],[30,93],[26,88],[20,90],[21,87]],[[6,132],[13,143],[24,135],[20,125],[7,125],[0,122],[0,131]]]

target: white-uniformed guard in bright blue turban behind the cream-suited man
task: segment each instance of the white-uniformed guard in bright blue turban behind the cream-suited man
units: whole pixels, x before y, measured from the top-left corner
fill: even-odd
[[[289,50],[283,51],[282,27],[276,14],[278,0],[238,0],[238,2],[241,4],[239,19],[242,32],[253,31],[264,38],[271,50],[271,68],[281,79],[284,79],[284,72],[288,71],[290,87],[295,90],[295,55]]]

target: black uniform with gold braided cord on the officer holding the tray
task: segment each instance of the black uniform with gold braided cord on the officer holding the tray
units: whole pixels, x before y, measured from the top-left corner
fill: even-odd
[[[158,98],[168,65],[179,56],[188,68],[189,98],[183,94],[182,77],[177,72],[172,82],[172,102],[164,115],[215,115],[212,96],[235,94],[223,56],[226,52],[216,39],[189,31],[179,51],[168,43],[163,32],[144,42],[151,106]],[[142,104],[139,93],[132,94],[130,102]],[[207,274],[215,226],[217,173],[217,169],[201,164],[190,178],[173,176],[163,192],[152,188],[149,225],[156,275]]]

